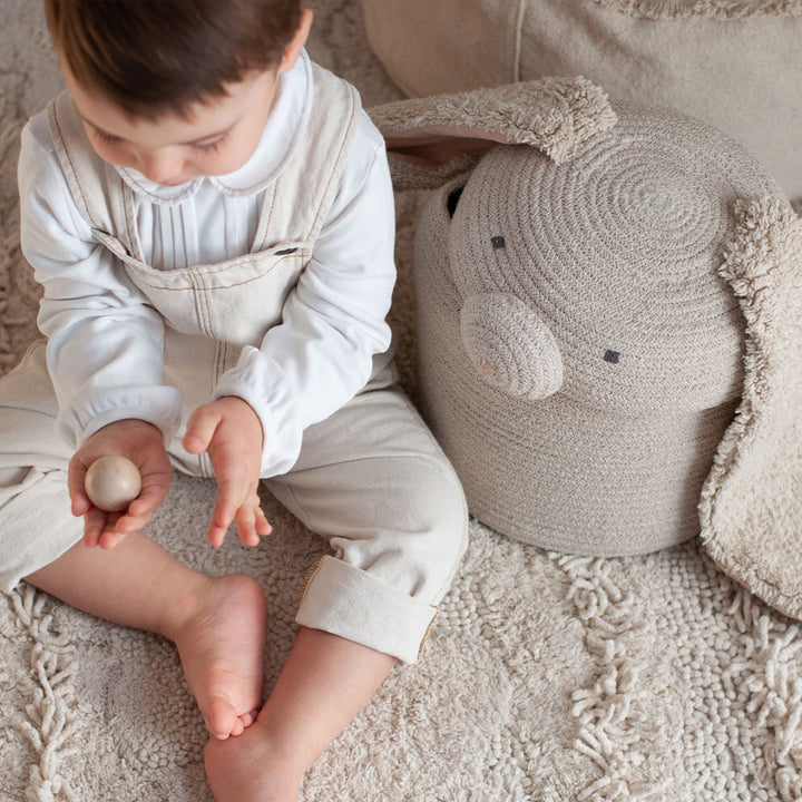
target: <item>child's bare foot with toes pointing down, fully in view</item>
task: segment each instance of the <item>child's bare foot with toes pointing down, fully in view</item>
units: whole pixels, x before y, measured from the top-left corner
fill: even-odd
[[[169,636],[206,727],[239,735],[262,706],[267,609],[258,583],[243,575],[203,577]]]

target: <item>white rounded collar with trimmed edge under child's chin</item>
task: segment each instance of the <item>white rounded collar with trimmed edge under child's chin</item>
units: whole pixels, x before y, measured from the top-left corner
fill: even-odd
[[[312,101],[312,65],[306,51],[280,79],[276,98],[254,155],[227,175],[194,178],[178,186],[165,186],[130,167],[115,169],[137,194],[155,204],[178,204],[195,195],[204,182],[229,196],[253,195],[275,179],[290,159],[309,118]]]

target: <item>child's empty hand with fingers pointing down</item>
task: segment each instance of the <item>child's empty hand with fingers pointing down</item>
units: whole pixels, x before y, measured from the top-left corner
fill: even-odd
[[[208,529],[213,546],[223,545],[232,521],[246,546],[258,546],[260,536],[273,531],[257,493],[262,440],[258,417],[235,395],[203,404],[189,415],[184,448],[189,453],[208,451],[217,478],[217,501]]]

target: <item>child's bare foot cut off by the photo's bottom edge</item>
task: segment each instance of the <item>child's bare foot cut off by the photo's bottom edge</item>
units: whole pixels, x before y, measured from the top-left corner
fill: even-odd
[[[293,763],[260,721],[239,737],[212,739],[206,746],[206,776],[217,802],[297,802],[305,767]]]

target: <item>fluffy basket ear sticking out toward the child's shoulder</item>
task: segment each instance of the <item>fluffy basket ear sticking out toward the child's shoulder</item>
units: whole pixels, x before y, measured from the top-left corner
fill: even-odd
[[[401,189],[440,186],[496,144],[530,145],[559,164],[616,121],[604,92],[580,77],[399,100],[370,115]]]

